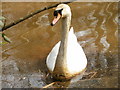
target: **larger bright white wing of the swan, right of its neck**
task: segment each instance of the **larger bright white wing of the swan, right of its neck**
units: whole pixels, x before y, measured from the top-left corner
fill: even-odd
[[[77,73],[85,69],[87,65],[87,58],[85,53],[77,42],[73,27],[71,27],[68,35],[67,47],[67,66],[71,73]]]

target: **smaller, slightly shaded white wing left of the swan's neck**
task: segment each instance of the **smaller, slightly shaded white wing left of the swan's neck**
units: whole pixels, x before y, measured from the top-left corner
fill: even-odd
[[[51,52],[49,53],[49,55],[47,56],[47,60],[46,60],[46,64],[48,69],[52,72],[54,70],[55,67],[55,62],[56,62],[56,58],[58,55],[58,51],[59,51],[59,47],[60,47],[60,43],[61,41],[59,41],[51,50]]]

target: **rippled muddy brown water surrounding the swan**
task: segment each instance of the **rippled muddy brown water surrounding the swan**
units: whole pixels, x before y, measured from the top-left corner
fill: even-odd
[[[13,22],[55,3],[2,3],[3,16]],[[52,87],[118,87],[118,3],[70,3],[72,26],[88,58],[91,79]],[[60,40],[60,21],[50,26],[53,9],[46,10],[5,31],[12,43],[2,46],[3,87],[41,88],[47,80],[45,59]]]

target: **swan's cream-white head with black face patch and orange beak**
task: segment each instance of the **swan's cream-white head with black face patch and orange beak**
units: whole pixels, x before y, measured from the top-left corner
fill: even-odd
[[[54,20],[51,25],[55,25],[60,18],[71,18],[71,9],[67,4],[59,4],[54,11]]]

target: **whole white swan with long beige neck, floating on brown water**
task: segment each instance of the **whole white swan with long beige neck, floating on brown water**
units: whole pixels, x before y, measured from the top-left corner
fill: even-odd
[[[48,54],[46,65],[54,79],[67,80],[82,73],[87,66],[87,58],[77,42],[71,24],[71,9],[67,4],[59,4],[54,11],[54,26],[62,20],[61,41]]]

